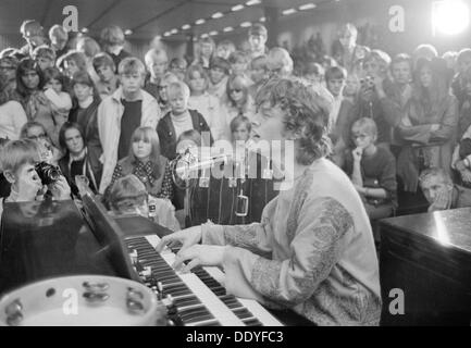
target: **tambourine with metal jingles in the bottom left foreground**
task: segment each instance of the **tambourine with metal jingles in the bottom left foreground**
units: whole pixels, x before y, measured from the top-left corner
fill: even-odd
[[[165,315],[145,285],[104,275],[41,281],[0,299],[0,326],[151,326]]]

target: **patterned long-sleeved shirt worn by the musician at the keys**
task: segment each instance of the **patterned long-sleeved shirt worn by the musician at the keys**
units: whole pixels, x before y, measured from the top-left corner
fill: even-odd
[[[329,160],[280,191],[260,223],[203,225],[202,244],[227,246],[230,294],[292,308],[318,325],[380,322],[371,225],[348,176]]]

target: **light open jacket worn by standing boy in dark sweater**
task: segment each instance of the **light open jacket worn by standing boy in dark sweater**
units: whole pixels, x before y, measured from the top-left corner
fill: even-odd
[[[140,126],[157,128],[161,117],[159,103],[145,90],[140,90],[142,100],[142,110]],[[121,135],[121,117],[124,113],[122,87],[117,88],[110,97],[106,98],[98,107],[98,134],[100,136],[103,153],[100,158],[103,163],[103,174],[100,183],[100,194],[110,185],[113,176],[114,166],[117,162],[117,146]]]

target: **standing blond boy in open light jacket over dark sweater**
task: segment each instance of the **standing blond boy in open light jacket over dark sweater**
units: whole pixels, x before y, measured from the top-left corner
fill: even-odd
[[[119,66],[121,86],[98,108],[98,133],[103,148],[100,192],[110,185],[116,162],[128,154],[131,136],[139,126],[156,128],[161,117],[159,104],[141,89],[146,67],[136,58]]]

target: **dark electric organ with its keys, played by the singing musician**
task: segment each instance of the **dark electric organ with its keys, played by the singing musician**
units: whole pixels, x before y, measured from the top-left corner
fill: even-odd
[[[5,203],[0,296],[49,277],[99,274],[148,285],[169,306],[174,325],[309,324],[293,312],[276,318],[257,301],[226,294],[218,268],[175,272],[176,250],[154,250],[159,235],[168,233],[140,216],[112,219],[90,192],[83,195],[82,213],[74,201]]]

